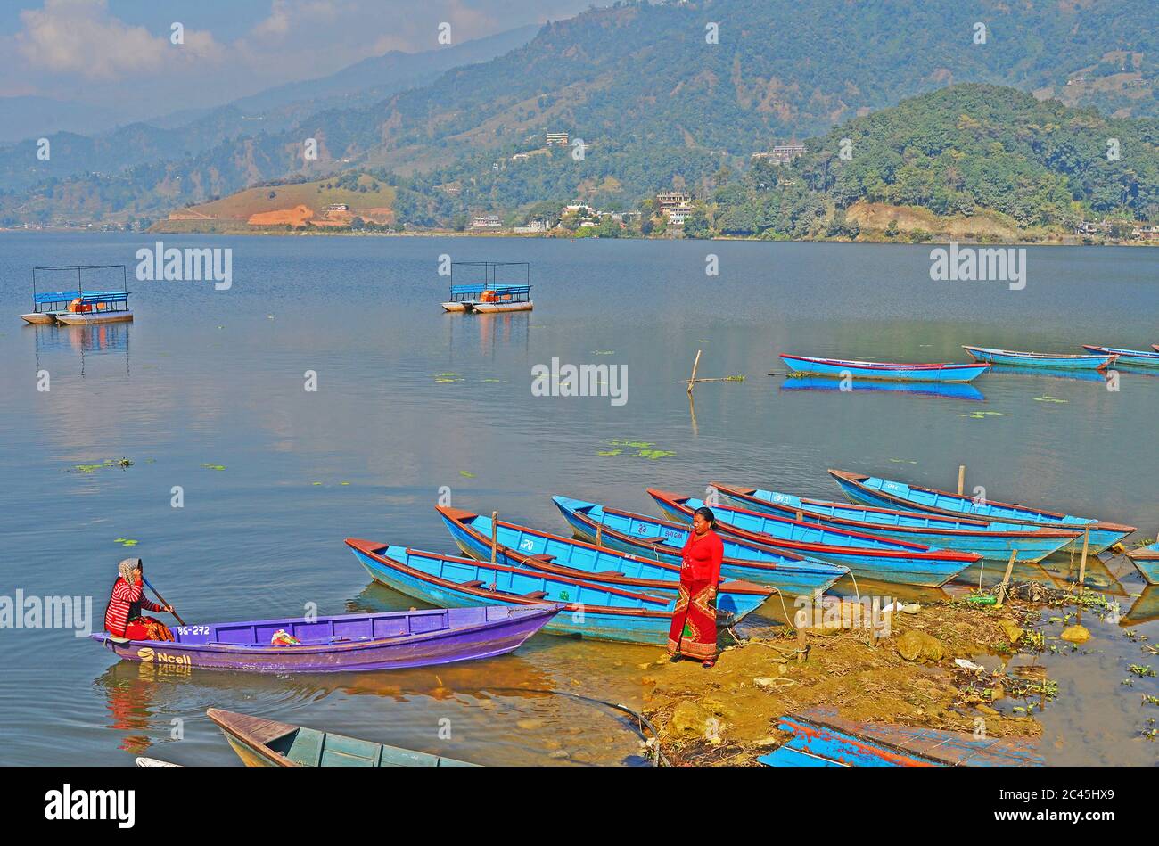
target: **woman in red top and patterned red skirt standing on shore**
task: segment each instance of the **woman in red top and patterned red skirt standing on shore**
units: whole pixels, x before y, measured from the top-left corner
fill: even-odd
[[[670,661],[694,658],[706,670],[716,663],[716,585],[724,557],[715,527],[712,509],[699,508],[692,515],[692,531],[680,550],[680,593],[668,632]]]

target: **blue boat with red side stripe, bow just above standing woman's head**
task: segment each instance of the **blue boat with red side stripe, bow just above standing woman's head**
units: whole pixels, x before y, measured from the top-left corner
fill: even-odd
[[[673,519],[686,524],[692,512],[705,503],[664,490],[648,489],[648,495]],[[921,544],[890,540],[865,532],[825,528],[756,511],[713,505],[716,525],[727,534],[752,544],[790,549],[823,561],[848,567],[859,578],[895,582],[921,588],[941,588],[982,556],[977,553],[933,549]]]

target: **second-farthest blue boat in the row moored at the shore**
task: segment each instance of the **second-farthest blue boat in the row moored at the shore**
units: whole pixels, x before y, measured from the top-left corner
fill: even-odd
[[[1018,549],[1018,561],[1041,561],[1078,535],[1072,530],[850,505],[760,488],[736,488],[720,482],[712,482],[712,487],[726,499],[750,511],[796,517],[829,528],[868,532],[940,549],[974,552],[991,561],[1009,561],[1014,549]]]

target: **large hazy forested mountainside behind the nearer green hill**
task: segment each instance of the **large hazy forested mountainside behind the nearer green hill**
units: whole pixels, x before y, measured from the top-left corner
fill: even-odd
[[[12,191],[0,197],[0,219],[155,216],[262,180],[336,169],[455,172],[487,155],[509,159],[546,131],[583,138],[590,153],[586,176],[556,173],[541,199],[583,182],[622,203],[656,183],[695,184],[721,156],[746,158],[774,139],[816,136],[963,81],[1154,116],[1153,12],[1152,0],[620,3],[552,22],[523,48],[372,107]],[[304,159],[305,138],[319,140],[316,161]]]

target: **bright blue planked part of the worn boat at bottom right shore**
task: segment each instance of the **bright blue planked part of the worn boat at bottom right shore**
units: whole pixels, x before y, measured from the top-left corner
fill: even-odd
[[[941,767],[932,758],[901,752],[801,717],[781,717],[777,728],[793,738],[757,761],[768,767]]]

